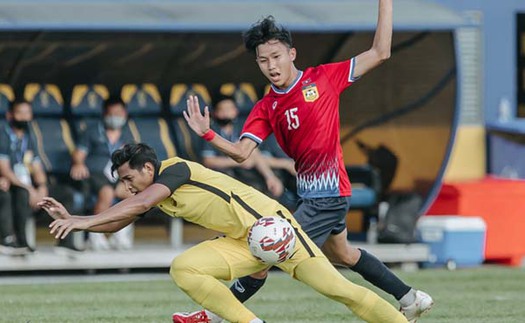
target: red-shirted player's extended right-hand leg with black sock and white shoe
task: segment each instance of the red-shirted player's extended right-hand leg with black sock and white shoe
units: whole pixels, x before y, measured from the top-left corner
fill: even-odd
[[[419,317],[432,307],[433,300],[428,294],[406,285],[372,254],[351,246],[347,240],[346,223],[341,223],[334,232],[336,234],[330,235],[322,248],[332,263],[349,267],[373,285],[394,296],[409,319]]]

